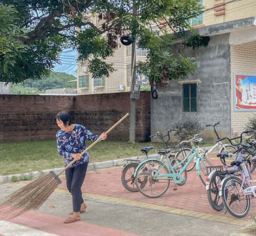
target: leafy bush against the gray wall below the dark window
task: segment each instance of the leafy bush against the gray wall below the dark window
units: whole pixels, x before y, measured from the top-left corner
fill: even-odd
[[[195,134],[201,133],[204,127],[200,124],[199,119],[188,119],[186,121],[177,121],[174,129],[177,131],[174,135],[178,137],[180,141],[189,140],[194,137]]]

